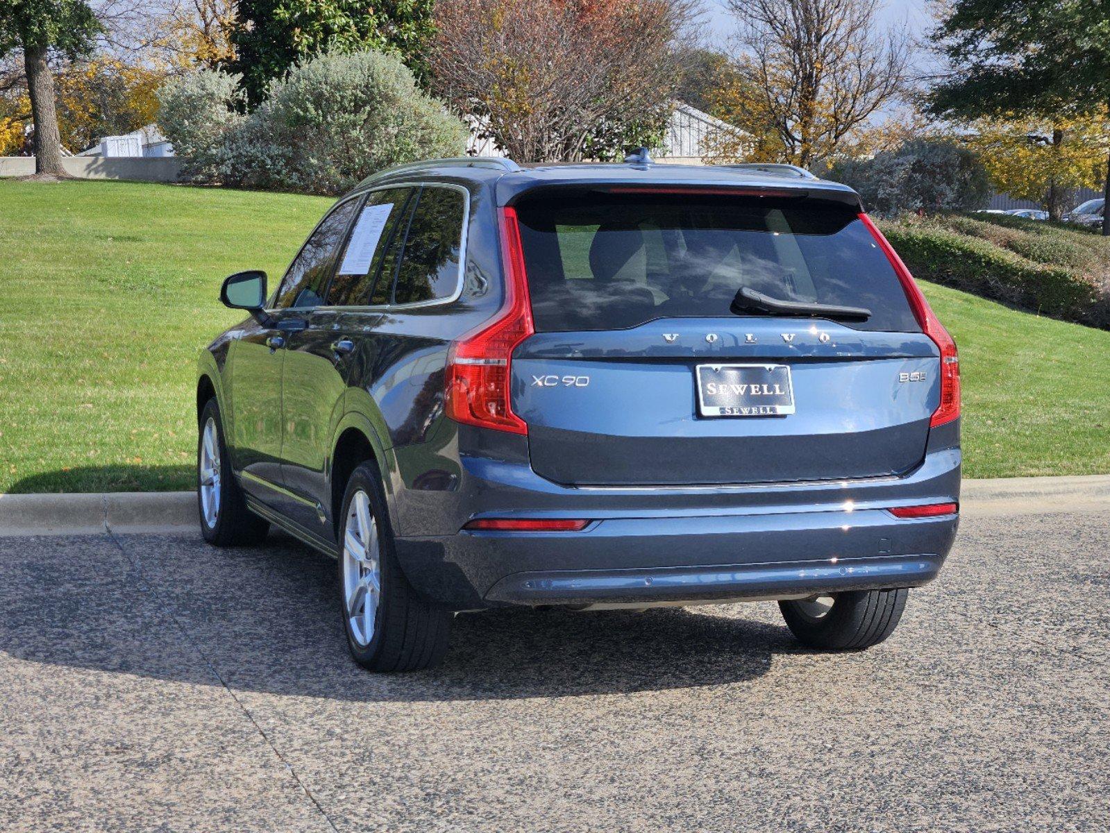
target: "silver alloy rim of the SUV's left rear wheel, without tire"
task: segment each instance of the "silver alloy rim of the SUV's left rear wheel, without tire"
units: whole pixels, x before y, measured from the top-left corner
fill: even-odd
[[[380,554],[370,495],[360,489],[347,506],[343,534],[343,603],[351,635],[362,648],[374,639],[374,621],[382,598]]]

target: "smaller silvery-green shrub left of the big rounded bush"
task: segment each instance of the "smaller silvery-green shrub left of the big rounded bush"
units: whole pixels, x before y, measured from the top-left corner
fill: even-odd
[[[158,91],[158,124],[186,178],[220,181],[228,142],[243,124],[239,81],[239,76],[202,69],[171,78]]]

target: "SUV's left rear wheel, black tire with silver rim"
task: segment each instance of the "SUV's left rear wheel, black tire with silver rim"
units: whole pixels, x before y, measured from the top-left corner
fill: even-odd
[[[452,614],[421,598],[397,564],[377,468],[351,474],[340,515],[340,612],[354,661],[370,671],[420,671],[447,651]]]

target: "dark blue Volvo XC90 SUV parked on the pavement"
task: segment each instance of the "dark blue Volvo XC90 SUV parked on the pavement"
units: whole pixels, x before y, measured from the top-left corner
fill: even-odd
[[[778,600],[894,630],[952,545],[956,345],[849,188],[785,165],[394,168],[202,352],[204,538],[339,561],[351,652],[497,605]]]

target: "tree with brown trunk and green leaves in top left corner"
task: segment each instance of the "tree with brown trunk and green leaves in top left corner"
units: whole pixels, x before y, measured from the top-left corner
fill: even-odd
[[[100,28],[82,0],[0,0],[0,57],[23,50],[38,175],[65,175],[50,52],[57,50],[70,58],[87,54]]]

